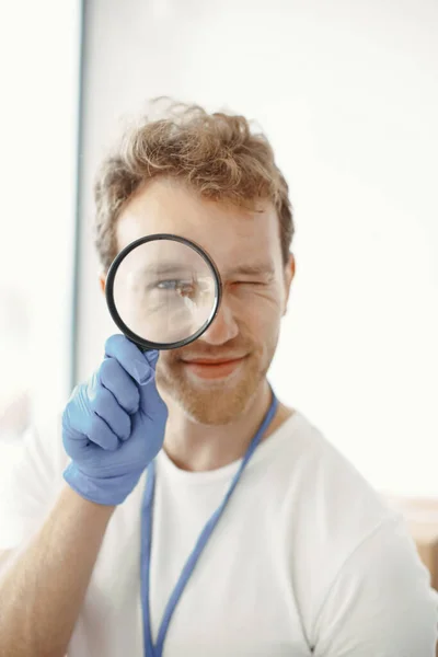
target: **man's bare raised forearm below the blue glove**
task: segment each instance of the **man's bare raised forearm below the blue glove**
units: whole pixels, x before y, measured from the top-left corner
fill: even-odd
[[[0,655],[64,657],[114,508],[62,489],[0,581]]]

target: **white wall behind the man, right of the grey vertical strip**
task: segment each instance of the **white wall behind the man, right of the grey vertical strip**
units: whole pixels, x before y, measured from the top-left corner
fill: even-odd
[[[157,95],[258,120],[291,187],[298,273],[270,379],[379,488],[438,494],[438,4],[87,3],[79,379],[113,327],[95,166]]]

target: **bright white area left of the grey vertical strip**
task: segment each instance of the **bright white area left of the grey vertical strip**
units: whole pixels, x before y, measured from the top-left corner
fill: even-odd
[[[45,415],[65,403],[70,384],[81,5],[7,5],[0,14],[0,406],[28,390]]]

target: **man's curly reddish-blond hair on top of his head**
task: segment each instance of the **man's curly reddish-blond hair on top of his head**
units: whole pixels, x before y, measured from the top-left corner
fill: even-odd
[[[164,118],[142,117],[102,162],[94,186],[95,246],[105,270],[117,254],[117,218],[148,180],[175,177],[204,198],[254,208],[268,199],[277,210],[281,253],[289,257],[295,227],[288,185],[262,132],[239,115],[207,113],[172,103]]]

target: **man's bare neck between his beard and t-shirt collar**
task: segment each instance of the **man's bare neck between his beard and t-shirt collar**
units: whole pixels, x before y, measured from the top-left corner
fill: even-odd
[[[180,407],[169,408],[164,451],[181,470],[201,472],[217,470],[241,459],[265,417],[272,401],[267,381],[235,422],[205,425],[187,417]],[[292,414],[278,404],[263,439],[273,434]]]

